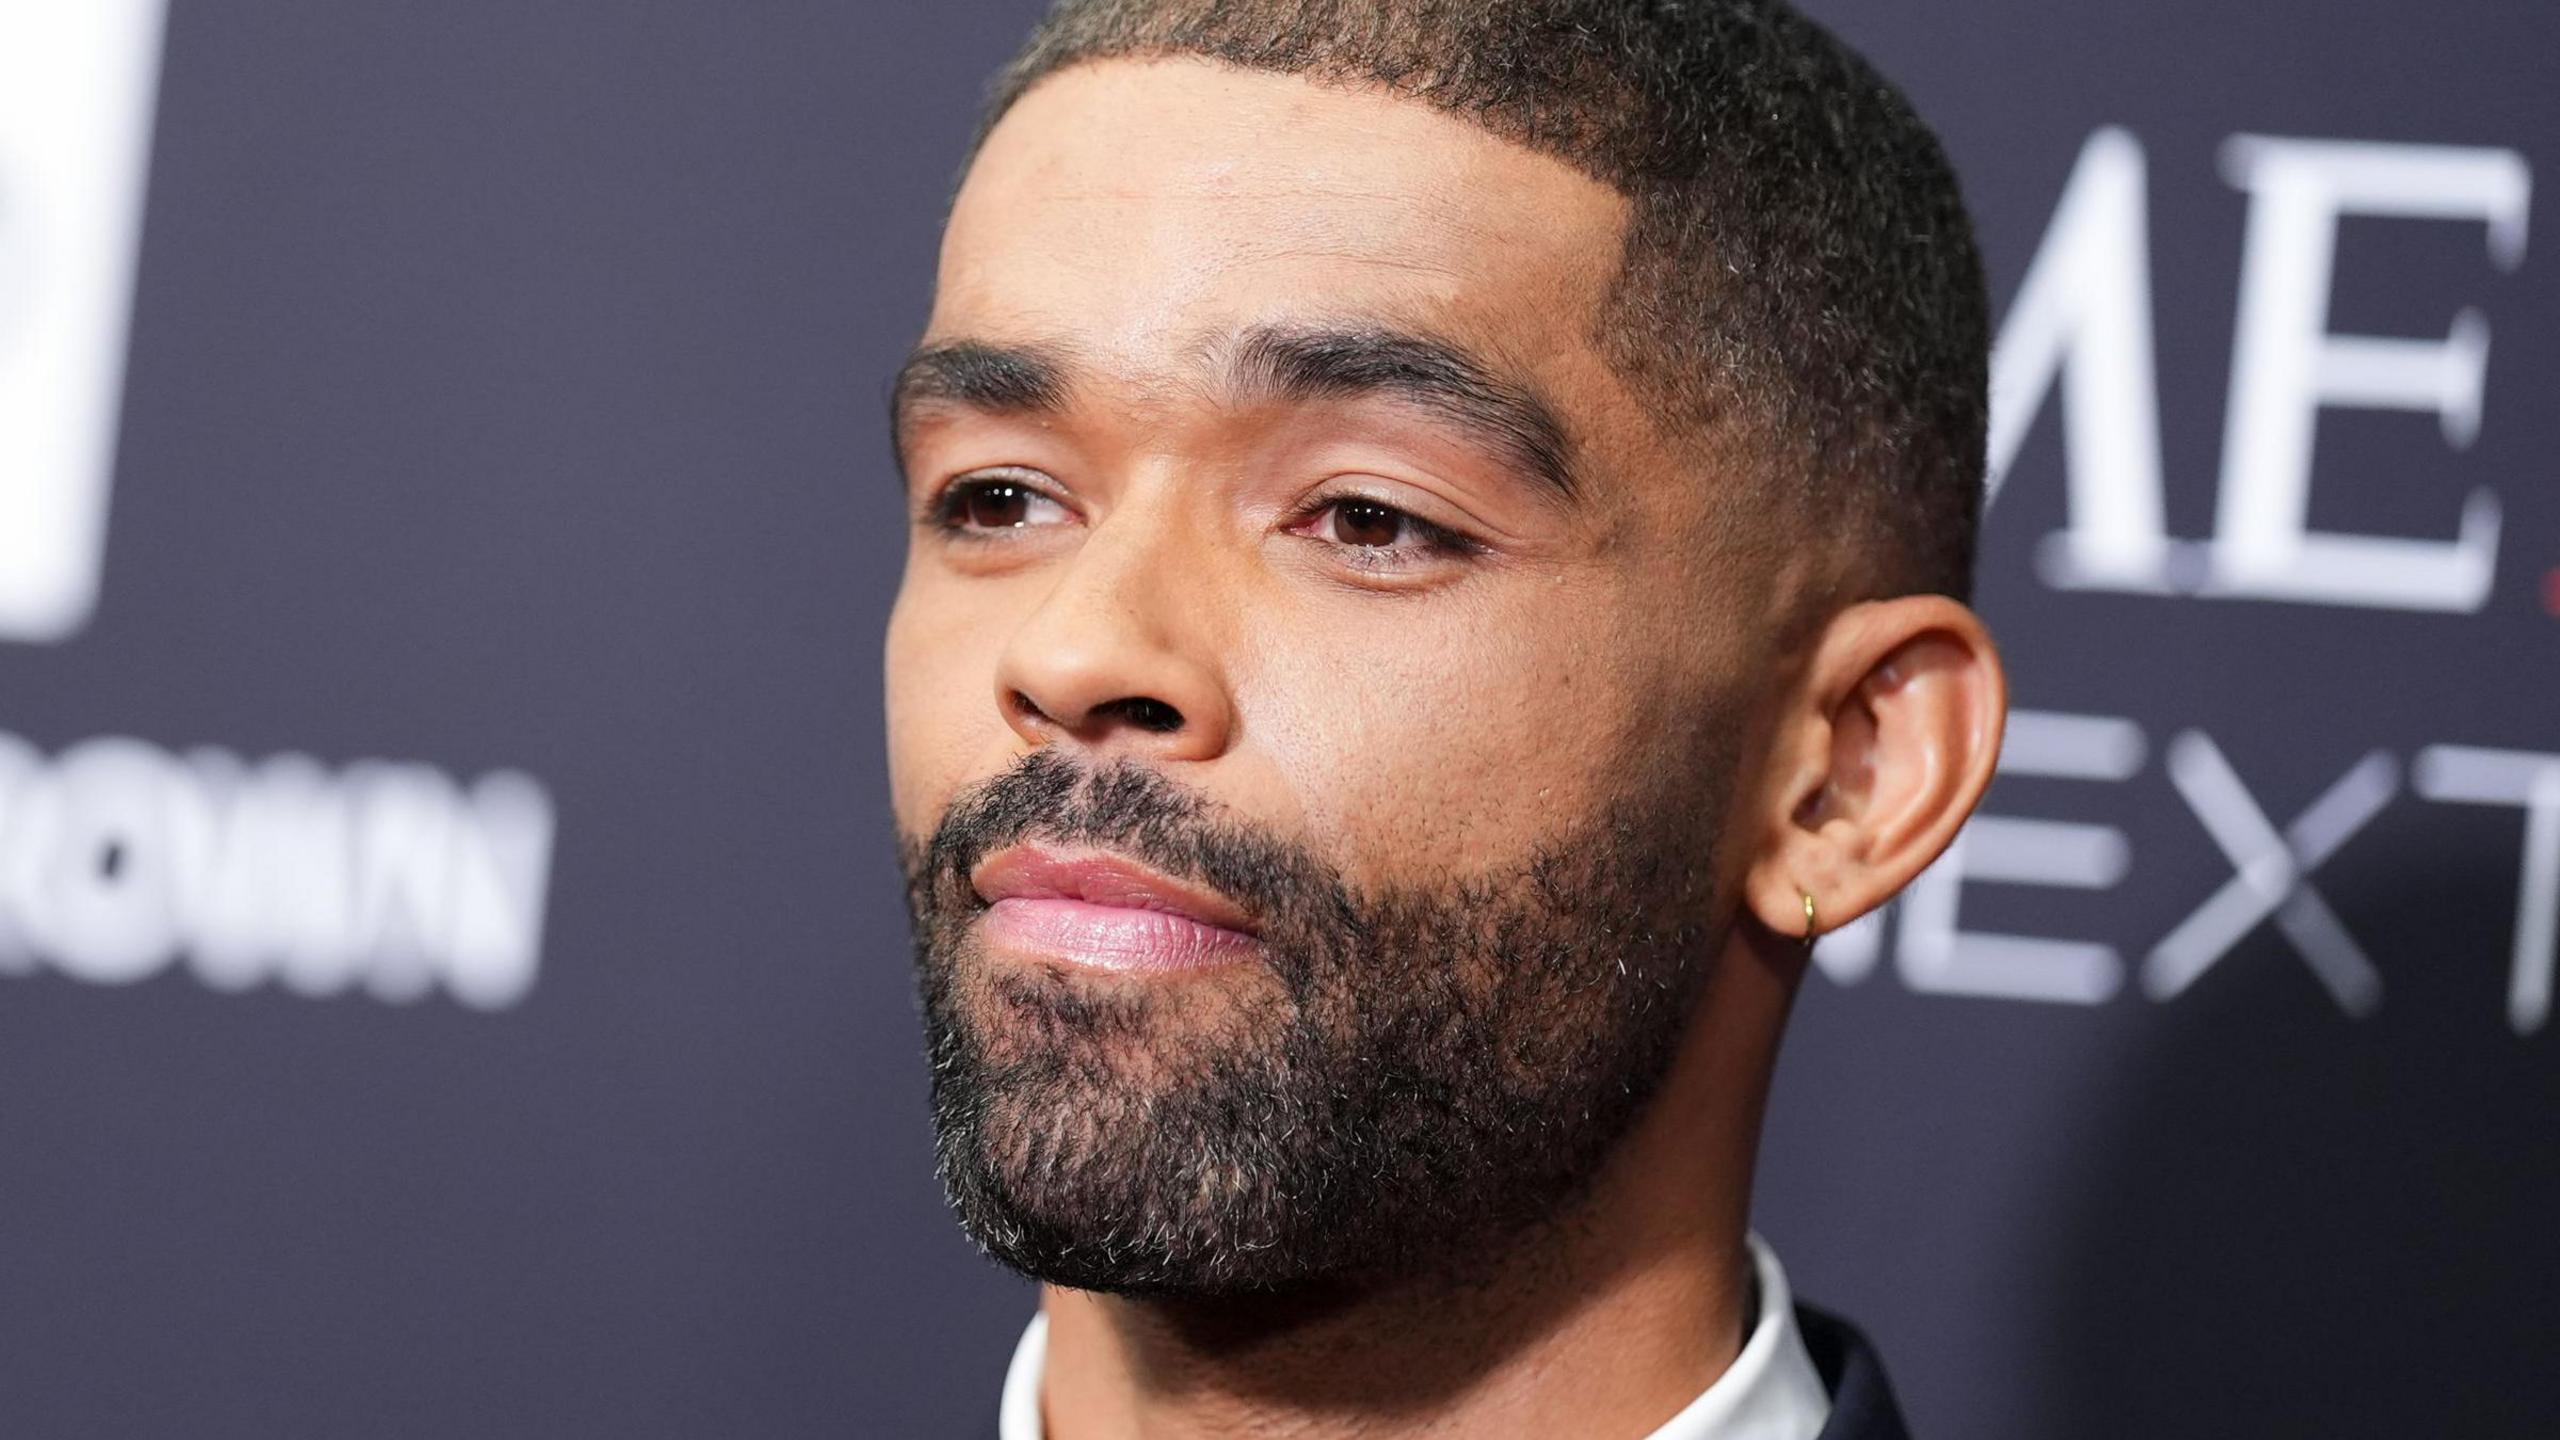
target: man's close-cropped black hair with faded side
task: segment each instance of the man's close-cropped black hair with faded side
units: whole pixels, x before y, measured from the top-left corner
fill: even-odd
[[[1093,59],[1201,56],[1462,115],[1631,202],[1600,346],[1672,433],[1743,425],[1861,594],[1966,597],[1989,315],[1938,138],[1784,0],[1057,0],[978,138]]]

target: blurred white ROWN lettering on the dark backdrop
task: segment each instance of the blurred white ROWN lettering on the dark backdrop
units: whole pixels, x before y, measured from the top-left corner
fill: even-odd
[[[0,971],[497,1010],[532,989],[548,871],[522,774],[0,733]]]

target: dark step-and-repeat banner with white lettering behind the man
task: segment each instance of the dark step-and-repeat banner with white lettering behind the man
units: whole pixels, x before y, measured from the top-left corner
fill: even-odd
[[[1823,0],[1999,307],[1984,812],[1759,1227],[1915,1430],[2560,1430],[2560,10]],[[0,0],[0,1432],[965,1435],[883,382],[1032,0]]]

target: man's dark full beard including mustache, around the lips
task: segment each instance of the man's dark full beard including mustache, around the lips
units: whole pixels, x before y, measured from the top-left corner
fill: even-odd
[[[1055,751],[906,846],[942,1184],[1032,1279],[1116,1294],[1377,1286],[1487,1266],[1590,1186],[1710,953],[1715,797],[1664,794],[1441,889],[1354,894],[1160,771]],[[1257,917],[1270,984],[993,961],[970,869],[1103,846]]]

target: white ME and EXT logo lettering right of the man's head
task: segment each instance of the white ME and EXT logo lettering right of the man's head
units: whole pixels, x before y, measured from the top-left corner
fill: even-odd
[[[2163,518],[2145,154],[2120,128],[2089,136],[2002,318],[1992,361],[1992,497],[2038,413],[2058,397],[2066,525],[2038,548],[2048,587],[2481,612],[2499,571],[2496,489],[2445,464],[2394,477],[2445,495],[2440,533],[2322,530],[2312,525],[2319,477],[2312,441],[2322,410],[2396,410],[2432,415],[2447,456],[2470,448],[2483,423],[2488,318],[2450,302],[2440,338],[2335,333],[2337,231],[2348,218],[2476,228],[2486,243],[2478,274],[2424,277],[2458,297],[2483,274],[2524,264],[2532,169],[2511,149],[2276,136],[2232,136],[2220,159],[2225,182],[2248,197],[2248,225],[2214,533],[2173,538]],[[2522,817],[2506,1020],[2532,1035],[2550,1022],[2560,951],[2560,753],[2452,740],[2409,758],[2355,756],[2312,805],[2278,817],[2204,730],[2156,743],[2130,715],[2020,710],[2002,774],[2135,784],[2158,751],[2161,779],[2230,876],[2140,956],[2094,938],[1966,930],[1958,925],[1966,887],[2104,892],[2135,866],[2135,846],[2117,825],[1984,812],[1894,907],[1894,969],[1928,994],[2102,1004],[2138,979],[2150,999],[2176,999],[2245,938],[2273,928],[2340,1012],[2371,1015],[2383,1002],[2381,971],[2322,894],[2317,871],[2368,825],[2388,822],[2401,794],[2414,792],[2419,802],[2506,807]],[[1884,956],[1884,925],[1879,915],[1828,938],[1825,974],[1841,984],[1864,979]]]

